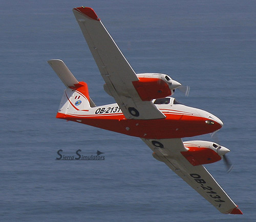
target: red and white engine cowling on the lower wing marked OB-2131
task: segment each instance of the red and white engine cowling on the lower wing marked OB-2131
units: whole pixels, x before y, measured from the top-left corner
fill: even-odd
[[[186,141],[184,146],[188,150],[181,154],[193,166],[217,162],[230,151],[217,143],[202,140]]]

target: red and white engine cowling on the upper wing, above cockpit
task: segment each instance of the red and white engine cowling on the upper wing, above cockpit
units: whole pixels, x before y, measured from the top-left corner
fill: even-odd
[[[137,74],[138,81],[133,85],[142,101],[151,101],[154,98],[170,96],[181,84],[162,73]]]

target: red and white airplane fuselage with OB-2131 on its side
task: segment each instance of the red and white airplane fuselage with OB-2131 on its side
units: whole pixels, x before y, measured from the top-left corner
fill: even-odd
[[[80,122],[93,127],[140,138],[182,138],[212,133],[219,130],[222,121],[197,108],[177,105],[156,105],[166,118],[126,119],[117,104],[77,110],[74,113],[57,113],[57,118]]]

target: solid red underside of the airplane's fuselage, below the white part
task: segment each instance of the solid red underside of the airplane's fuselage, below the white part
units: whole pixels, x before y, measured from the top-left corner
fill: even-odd
[[[186,115],[166,115],[165,119],[126,119],[123,114],[116,115],[72,115],[58,113],[57,118],[80,122],[93,127],[140,138],[182,138],[212,133],[220,129],[205,124],[206,118]]]

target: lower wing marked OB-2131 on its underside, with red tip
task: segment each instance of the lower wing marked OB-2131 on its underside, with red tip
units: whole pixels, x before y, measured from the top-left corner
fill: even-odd
[[[164,162],[221,213],[242,214],[203,165],[193,166],[181,154],[188,150],[182,139],[141,139],[151,148],[157,160]]]

